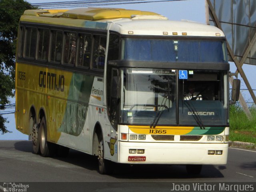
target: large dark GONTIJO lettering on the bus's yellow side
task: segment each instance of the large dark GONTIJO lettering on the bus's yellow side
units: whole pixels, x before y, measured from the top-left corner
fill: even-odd
[[[64,75],[40,71],[39,72],[39,87],[48,88],[64,92]]]

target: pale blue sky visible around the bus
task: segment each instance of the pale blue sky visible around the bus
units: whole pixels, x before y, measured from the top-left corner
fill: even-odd
[[[27,0],[29,3],[47,3],[47,2],[64,2],[65,0]],[[70,0],[72,1],[72,0]],[[151,0],[152,1],[152,0]],[[125,4],[125,5],[111,5],[111,6],[100,6],[100,7],[113,7],[113,8],[125,8],[135,9],[142,11],[151,11],[158,14],[162,14],[169,18],[169,20],[190,20],[200,23],[206,23],[205,16],[205,0],[183,0],[173,2],[153,2],[153,3],[142,3],[142,4]],[[66,9],[66,8],[65,8]],[[68,8],[67,8],[68,9]],[[72,9],[72,8],[70,8]],[[256,89],[254,83],[254,73],[256,66],[244,64],[244,72],[252,86],[252,89]],[[236,67],[234,63],[230,63],[230,71],[235,72]],[[241,77],[240,77],[241,78]],[[241,82],[241,88],[246,89],[244,82]],[[248,91],[242,91],[246,101],[252,101]],[[11,103],[15,103],[15,98],[11,98]],[[14,114],[5,115],[5,118],[9,121],[6,127],[12,133],[0,134],[0,140],[28,140],[28,136],[20,133],[15,128]]]

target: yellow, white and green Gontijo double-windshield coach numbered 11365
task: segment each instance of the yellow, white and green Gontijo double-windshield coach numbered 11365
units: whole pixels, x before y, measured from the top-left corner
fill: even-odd
[[[153,12],[26,10],[16,56],[16,128],[35,154],[115,163],[226,164],[229,64],[221,30]]]

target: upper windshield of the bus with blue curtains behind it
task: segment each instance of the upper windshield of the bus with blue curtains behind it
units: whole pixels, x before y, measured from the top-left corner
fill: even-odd
[[[224,40],[122,39],[122,60],[226,63]]]

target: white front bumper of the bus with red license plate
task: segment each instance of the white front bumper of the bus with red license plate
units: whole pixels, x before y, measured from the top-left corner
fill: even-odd
[[[118,142],[119,163],[127,164],[214,164],[227,163],[228,143]],[[130,150],[144,150],[143,154]],[[210,151],[211,154],[208,154]],[[218,153],[222,154],[218,154]],[[214,153],[214,154],[212,154]]]

